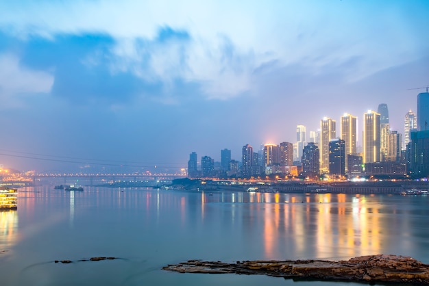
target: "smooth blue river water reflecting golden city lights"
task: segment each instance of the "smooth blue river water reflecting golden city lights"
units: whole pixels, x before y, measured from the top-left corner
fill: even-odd
[[[380,253],[429,263],[428,218],[429,196],[27,187],[0,212],[0,285],[332,285],[161,268]],[[121,259],[78,261],[99,256]]]

